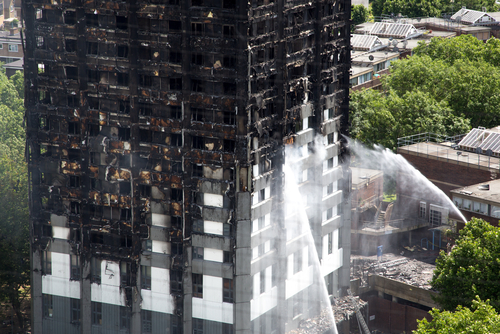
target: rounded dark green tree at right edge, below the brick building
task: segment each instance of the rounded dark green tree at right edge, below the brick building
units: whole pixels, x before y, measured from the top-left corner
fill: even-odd
[[[500,307],[500,228],[473,218],[460,231],[450,254],[441,251],[431,281],[445,310],[471,307],[476,296]]]

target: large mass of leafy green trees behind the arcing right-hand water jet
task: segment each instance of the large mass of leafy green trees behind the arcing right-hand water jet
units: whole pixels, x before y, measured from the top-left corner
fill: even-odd
[[[433,38],[392,63],[383,91],[351,94],[351,135],[395,149],[423,132],[456,135],[500,124],[500,40]]]

